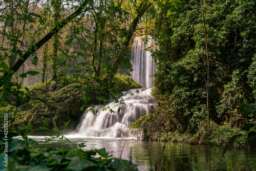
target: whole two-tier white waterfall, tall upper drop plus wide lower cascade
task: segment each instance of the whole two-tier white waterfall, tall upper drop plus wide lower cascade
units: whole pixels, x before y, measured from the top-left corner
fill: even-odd
[[[144,51],[148,46],[153,45],[153,40],[148,37],[149,41],[144,44],[141,37],[136,37],[131,52],[131,64],[134,71],[131,73],[132,78],[141,83],[147,89],[134,89],[123,92],[123,96],[119,96],[118,100],[124,100],[125,105],[115,103],[109,100],[105,107],[115,111],[111,113],[109,110],[102,111],[101,105],[96,105],[95,110],[99,113],[95,116],[91,111],[83,114],[78,127],[78,134],[86,137],[127,137],[126,128],[131,122],[153,110],[154,99],[148,98],[153,87],[153,75],[156,72],[155,62],[150,52]],[[118,112],[118,109],[122,108]]]

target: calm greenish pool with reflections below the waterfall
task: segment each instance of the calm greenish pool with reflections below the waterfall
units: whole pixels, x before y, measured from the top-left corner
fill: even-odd
[[[76,145],[86,142],[85,150],[105,147],[106,152],[117,158],[120,157],[124,146],[121,158],[126,160],[132,158],[132,161],[138,164],[139,170],[151,168],[147,149],[149,149],[154,169],[154,164],[161,157],[164,146],[164,142],[158,141],[146,144],[145,141],[140,140],[67,137]],[[38,140],[41,147],[46,145],[43,143],[44,137],[42,136],[30,136],[30,138]],[[59,141],[53,141],[49,147],[59,148]],[[65,142],[65,147],[73,146]],[[256,170],[256,151],[231,149],[220,158],[221,153],[222,149],[219,147],[181,143],[165,143],[163,152],[172,161],[169,170]]]

